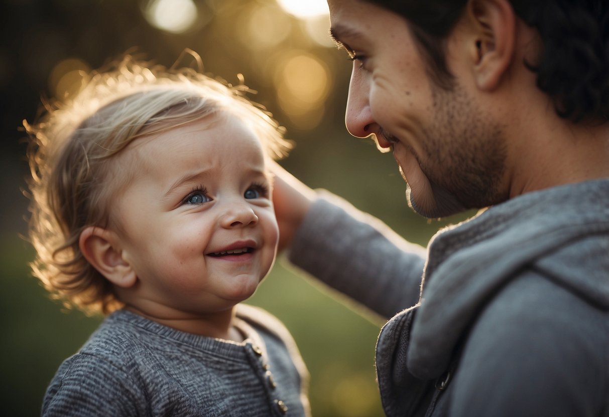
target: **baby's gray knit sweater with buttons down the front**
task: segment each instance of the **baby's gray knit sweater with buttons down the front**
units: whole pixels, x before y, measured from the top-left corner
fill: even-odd
[[[238,305],[242,343],[128,311],[107,317],[48,387],[43,416],[308,416],[308,372],[287,329]]]

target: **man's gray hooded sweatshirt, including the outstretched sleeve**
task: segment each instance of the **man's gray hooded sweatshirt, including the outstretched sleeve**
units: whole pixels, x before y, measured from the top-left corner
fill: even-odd
[[[376,346],[388,416],[609,416],[609,180],[513,198],[426,254],[325,195],[289,259],[393,316]]]

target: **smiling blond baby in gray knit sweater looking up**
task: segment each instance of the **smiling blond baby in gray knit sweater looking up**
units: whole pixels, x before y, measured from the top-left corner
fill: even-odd
[[[304,416],[308,372],[241,304],[275,260],[283,130],[234,88],[125,57],[48,108],[32,137],[33,274],[104,322],[44,416]]]

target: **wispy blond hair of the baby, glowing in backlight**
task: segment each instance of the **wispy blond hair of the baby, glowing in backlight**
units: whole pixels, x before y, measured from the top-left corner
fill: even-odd
[[[109,281],[86,261],[79,238],[88,226],[108,226],[111,195],[120,187],[111,178],[118,168],[114,156],[133,140],[227,111],[250,124],[269,157],[287,154],[284,129],[246,92],[244,85],[191,67],[167,69],[126,55],[90,74],[75,97],[46,105],[37,123],[24,120],[32,173],[29,232],[37,252],[31,267],[55,298],[87,313],[122,306]],[[119,184],[129,181],[119,177]]]

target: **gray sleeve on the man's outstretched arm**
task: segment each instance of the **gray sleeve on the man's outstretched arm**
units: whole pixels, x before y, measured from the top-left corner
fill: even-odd
[[[415,305],[426,251],[379,219],[320,193],[288,258],[323,283],[389,319]]]

